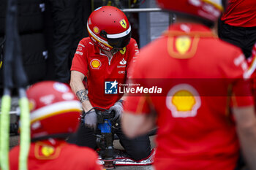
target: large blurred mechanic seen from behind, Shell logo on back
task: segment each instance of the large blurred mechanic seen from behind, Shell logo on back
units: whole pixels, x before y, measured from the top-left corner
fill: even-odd
[[[162,96],[128,96],[124,133],[134,137],[159,127],[157,170],[233,170],[239,142],[247,165],[256,169],[256,117],[249,82],[244,81],[251,71],[241,50],[210,29],[223,2],[158,3],[176,12],[177,23],[140,51],[132,78],[143,87],[162,88]]]

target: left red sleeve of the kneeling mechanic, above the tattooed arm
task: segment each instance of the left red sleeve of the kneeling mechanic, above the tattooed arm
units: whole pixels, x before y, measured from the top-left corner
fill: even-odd
[[[84,76],[87,75],[88,61],[86,56],[86,44],[83,42],[83,39],[78,44],[78,48],[72,60],[72,66],[70,70],[81,72],[84,74]]]

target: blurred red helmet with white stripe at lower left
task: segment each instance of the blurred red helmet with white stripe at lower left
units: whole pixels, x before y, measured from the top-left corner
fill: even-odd
[[[78,128],[80,101],[61,82],[38,82],[27,90],[31,139],[66,137]]]

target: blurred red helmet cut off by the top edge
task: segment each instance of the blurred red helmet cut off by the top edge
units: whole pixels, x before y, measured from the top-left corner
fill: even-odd
[[[222,0],[157,0],[157,2],[162,9],[184,12],[213,22],[223,11]]]

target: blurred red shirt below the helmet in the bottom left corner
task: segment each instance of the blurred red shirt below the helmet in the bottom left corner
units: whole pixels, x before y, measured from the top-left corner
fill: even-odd
[[[10,170],[18,170],[20,146],[10,151]],[[78,147],[64,141],[55,140],[54,144],[32,142],[28,157],[29,170],[102,170],[98,156],[88,147]]]

